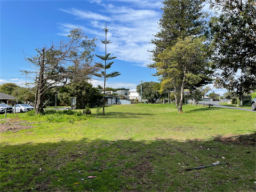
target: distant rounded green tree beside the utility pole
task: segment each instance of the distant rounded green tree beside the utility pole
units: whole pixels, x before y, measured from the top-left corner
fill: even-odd
[[[142,99],[147,99],[149,102],[154,102],[160,97],[160,93],[155,87],[157,82],[144,82],[142,83]],[[140,85],[137,85],[136,90],[140,93]]]

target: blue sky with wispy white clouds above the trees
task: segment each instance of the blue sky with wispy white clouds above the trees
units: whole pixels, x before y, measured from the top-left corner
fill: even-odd
[[[84,29],[89,38],[96,37],[96,54],[104,54],[102,30],[107,21],[107,52],[117,59],[111,71],[122,75],[108,80],[107,86],[135,88],[140,81],[157,81],[153,69],[145,67],[151,61],[149,50],[161,18],[161,0],[88,0],[88,1],[4,1],[0,0],[0,84],[18,85],[30,81],[19,70],[29,70],[24,54],[36,54],[37,47],[65,39],[72,28]],[[204,9],[207,10],[209,6]],[[97,61],[97,58],[95,58]],[[103,85],[93,80],[93,85]],[[225,90],[214,90],[215,93]]]

